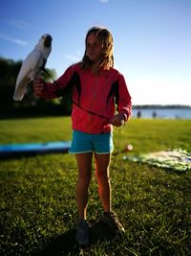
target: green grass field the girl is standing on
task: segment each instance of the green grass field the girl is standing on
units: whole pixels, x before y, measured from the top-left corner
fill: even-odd
[[[114,131],[111,165],[113,208],[124,238],[97,225],[101,205],[93,175],[88,220],[92,244],[74,243],[77,217],[73,155],[44,154],[0,161],[1,255],[191,255],[191,173],[123,161],[136,154],[181,148],[191,151],[191,121],[132,119]],[[0,143],[71,140],[69,117],[0,121]],[[94,172],[94,166],[93,166]]]

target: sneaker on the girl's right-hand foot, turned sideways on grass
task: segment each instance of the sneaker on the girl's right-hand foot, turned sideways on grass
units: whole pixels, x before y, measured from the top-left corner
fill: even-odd
[[[125,229],[122,226],[122,224],[117,220],[117,215],[114,212],[110,213],[104,213],[101,218],[101,221],[106,223],[109,228],[116,231],[117,233],[120,233],[121,235],[124,234]]]

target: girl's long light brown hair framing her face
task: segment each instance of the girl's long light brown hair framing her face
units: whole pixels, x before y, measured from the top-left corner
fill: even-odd
[[[97,39],[101,42],[103,49],[100,58],[94,64],[92,60],[88,58],[86,53],[87,38],[91,33],[96,35]],[[99,27],[90,29],[85,39],[85,53],[81,60],[82,69],[87,70],[92,68],[94,74],[99,74],[100,70],[103,68],[114,67],[113,44],[113,36],[107,29]]]

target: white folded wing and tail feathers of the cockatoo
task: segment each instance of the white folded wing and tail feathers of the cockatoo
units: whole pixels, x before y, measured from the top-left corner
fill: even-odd
[[[16,79],[15,90],[13,94],[14,101],[22,101],[26,91],[27,84],[40,74],[40,67],[43,64],[43,58],[40,51],[33,50],[32,53],[23,61],[18,77]]]

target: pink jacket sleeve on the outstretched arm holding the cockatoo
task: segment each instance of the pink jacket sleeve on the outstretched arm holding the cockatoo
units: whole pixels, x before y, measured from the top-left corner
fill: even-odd
[[[41,98],[54,99],[64,95],[64,93],[71,89],[73,86],[73,76],[76,65],[70,66],[64,74],[56,81],[45,82],[44,90],[41,93]]]

